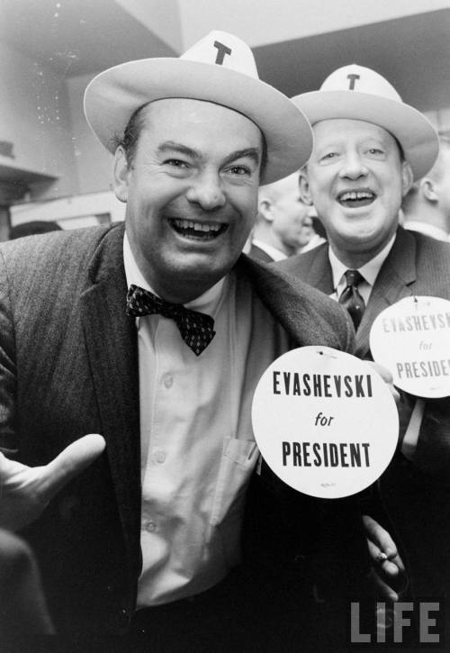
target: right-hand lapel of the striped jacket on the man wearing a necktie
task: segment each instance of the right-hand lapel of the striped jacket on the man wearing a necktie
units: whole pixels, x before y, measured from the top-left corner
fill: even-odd
[[[388,306],[403,297],[409,297],[410,285],[416,278],[416,240],[400,227],[392,249],[376,277],[365,314],[356,331],[356,356],[368,356],[370,330],[375,318]]]

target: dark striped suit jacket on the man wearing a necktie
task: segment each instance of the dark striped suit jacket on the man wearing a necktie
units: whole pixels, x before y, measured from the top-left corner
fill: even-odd
[[[277,264],[330,295],[328,244]],[[356,331],[356,355],[372,358],[370,328],[385,308],[411,295],[450,299],[450,245],[401,227]],[[401,436],[413,398],[401,396]],[[381,478],[382,497],[410,558],[417,594],[450,593],[450,399],[428,400],[414,464],[398,454]],[[449,614],[450,617],[450,614]],[[450,622],[450,621],[449,621]]]

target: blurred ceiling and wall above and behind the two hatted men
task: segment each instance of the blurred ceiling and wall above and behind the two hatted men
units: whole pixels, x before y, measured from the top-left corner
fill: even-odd
[[[30,221],[122,220],[85,86],[123,61],[177,57],[212,29],[247,41],[259,76],[287,95],[357,63],[450,132],[448,0],[0,0],[0,240]]]

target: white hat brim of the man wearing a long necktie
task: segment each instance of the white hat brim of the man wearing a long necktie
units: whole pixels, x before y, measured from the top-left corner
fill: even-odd
[[[437,159],[437,132],[428,119],[409,104],[357,91],[312,91],[292,98],[314,125],[322,120],[373,122],[401,143],[414,179],[428,173]]]

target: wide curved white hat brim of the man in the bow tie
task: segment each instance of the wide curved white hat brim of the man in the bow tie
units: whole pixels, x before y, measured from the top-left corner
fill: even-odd
[[[114,139],[121,137],[132,113],[175,97],[221,104],[255,122],[267,145],[261,183],[287,177],[311,156],[311,124],[288,97],[260,79],[187,59],[139,59],[105,70],[85,90],[85,116],[113,152]]]

